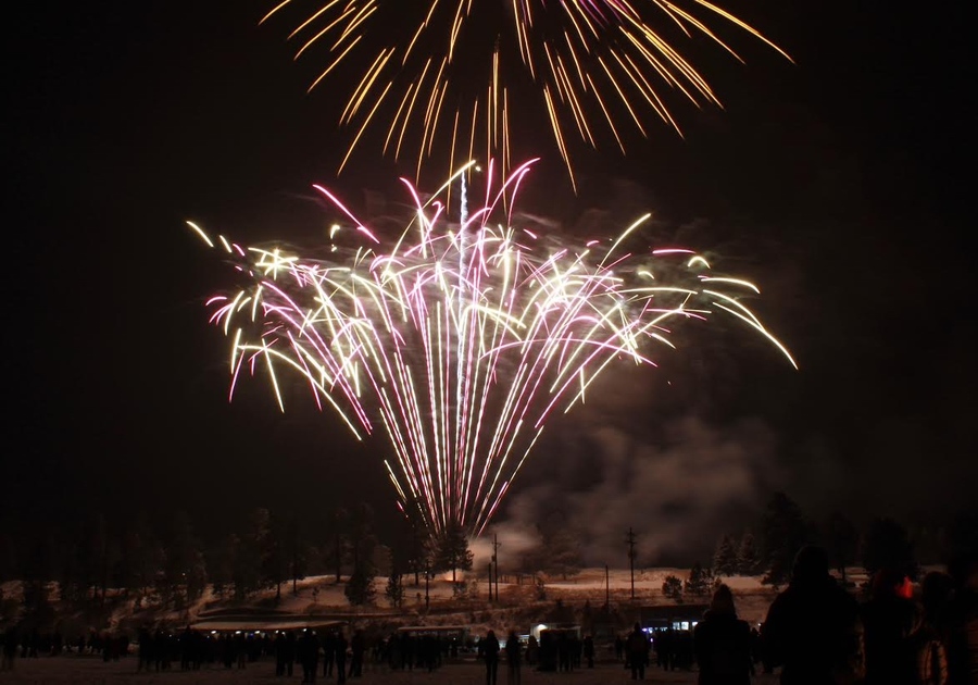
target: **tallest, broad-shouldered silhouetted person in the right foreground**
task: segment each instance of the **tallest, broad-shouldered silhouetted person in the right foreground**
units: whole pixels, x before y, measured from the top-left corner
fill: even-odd
[[[782,667],[781,685],[858,681],[864,672],[858,614],[858,602],[829,575],[825,549],[803,547],[761,632],[769,663]]]

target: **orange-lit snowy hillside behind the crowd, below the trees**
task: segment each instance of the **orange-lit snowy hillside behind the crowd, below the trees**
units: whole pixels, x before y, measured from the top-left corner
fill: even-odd
[[[396,610],[384,597],[386,577],[378,576],[374,587],[377,590],[373,606],[351,607],[343,590],[346,583],[337,583],[334,576],[310,576],[298,581],[294,591],[291,583],[281,587],[281,597],[275,600],[275,590],[268,588],[249,598],[248,606],[269,609],[296,618],[305,615],[330,616],[344,621],[354,627],[371,625],[391,626],[403,624],[467,625],[475,634],[488,628],[507,632],[515,628],[525,633],[530,625],[547,620],[581,621],[587,606],[592,610],[610,600],[618,630],[627,630],[638,620],[638,607],[675,603],[662,594],[662,584],[667,575],[686,578],[687,569],[636,569],[635,599],[631,598],[631,576],[627,570],[612,569],[605,576],[604,569],[582,569],[566,578],[547,577],[544,587],[537,587],[528,576],[517,578],[507,575],[500,580],[499,600],[489,601],[489,586],[479,574],[459,573],[466,591],[454,596],[451,574],[434,577],[426,587],[424,580],[414,585],[413,576],[404,578],[404,601],[401,610]],[[346,577],[343,578],[346,581]],[[761,584],[757,576],[736,576],[723,578],[730,585],[737,601],[740,618],[756,624],[764,620],[767,608],[776,591]],[[18,601],[21,588],[17,583],[3,584],[3,596]],[[55,584],[49,587],[49,597],[57,602]],[[139,626],[168,625],[180,627],[193,623],[202,614],[221,609],[240,608],[239,605],[215,597],[209,587],[204,595],[183,611],[161,610],[156,598],[148,598],[142,608],[134,606],[131,599],[113,597],[110,590],[111,609],[98,623],[83,616],[67,616],[60,613],[59,627],[65,638],[74,640],[77,635],[103,631],[122,632],[135,637]],[[427,595],[427,602],[426,596]],[[703,603],[704,597],[687,597],[687,603]],[[426,606],[427,605],[427,606]],[[559,611],[557,608],[563,607]],[[574,614],[557,618],[556,613]],[[385,628],[386,630],[386,628]]]

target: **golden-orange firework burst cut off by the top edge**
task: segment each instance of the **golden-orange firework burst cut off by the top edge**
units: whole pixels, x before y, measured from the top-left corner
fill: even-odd
[[[647,115],[679,132],[667,100],[720,104],[676,47],[700,35],[742,62],[709,20],[788,58],[706,0],[284,0],[261,23],[278,17],[294,26],[297,60],[327,55],[310,90],[362,74],[340,96],[353,129],[340,170],[372,126],[386,128],[384,153],[414,159],[418,174],[436,132],[451,140],[448,166],[484,155],[509,169],[514,113],[540,111],[573,183],[575,136],[598,147],[605,128],[624,151],[627,128],[648,135]]]

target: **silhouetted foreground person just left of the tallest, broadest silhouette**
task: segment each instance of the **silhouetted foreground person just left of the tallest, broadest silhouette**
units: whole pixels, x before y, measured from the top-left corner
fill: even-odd
[[[751,627],[737,618],[734,594],[720,585],[693,633],[700,685],[750,685]]]

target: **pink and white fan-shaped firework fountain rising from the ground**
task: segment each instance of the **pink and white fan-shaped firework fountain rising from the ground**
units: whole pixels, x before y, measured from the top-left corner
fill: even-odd
[[[471,166],[427,201],[405,182],[416,213],[388,251],[322,188],[362,242],[335,244],[329,259],[244,250],[190,224],[248,282],[208,301],[233,340],[231,394],[264,361],[280,407],[278,370],[290,369],[358,438],[379,424],[401,506],[432,534],[485,528],[548,418],[610,364],[654,364],[652,348],[674,347],[670,323],[729,314],[794,365],[742,300],[755,286],[710,275],[689,250],[627,251],[645,217],[579,248],[521,228],[501,199],[515,199],[530,163],[488,178],[485,204],[452,223],[442,196]]]

